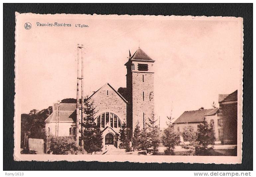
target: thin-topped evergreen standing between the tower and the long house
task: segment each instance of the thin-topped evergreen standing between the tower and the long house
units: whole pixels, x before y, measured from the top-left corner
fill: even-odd
[[[164,147],[166,147],[164,153],[166,155],[174,155],[175,145],[177,145],[180,140],[179,135],[174,132],[174,128],[171,123],[172,117],[170,116],[167,118],[169,120],[168,122],[166,122],[168,127],[164,129],[163,136],[161,137],[161,142],[163,143]]]

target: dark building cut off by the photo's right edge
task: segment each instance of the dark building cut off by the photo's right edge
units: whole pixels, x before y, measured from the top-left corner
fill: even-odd
[[[223,144],[237,144],[237,90],[229,95],[219,95],[219,110]]]

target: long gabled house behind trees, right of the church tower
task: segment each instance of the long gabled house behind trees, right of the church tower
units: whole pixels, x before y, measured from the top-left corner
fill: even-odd
[[[196,132],[197,126],[201,122],[203,122],[204,117],[209,125],[214,127],[214,136],[215,141],[222,140],[222,133],[221,133],[221,119],[218,116],[219,109],[200,109],[195,111],[185,111],[178,117],[174,122],[174,131],[178,133],[182,133],[186,126],[191,126],[192,129]]]

